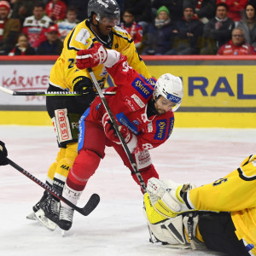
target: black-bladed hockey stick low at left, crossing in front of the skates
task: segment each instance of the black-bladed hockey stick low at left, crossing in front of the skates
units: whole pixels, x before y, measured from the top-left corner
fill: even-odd
[[[97,195],[97,194],[93,194],[93,195],[90,196],[89,201],[87,201],[86,205],[83,208],[77,207],[71,201],[68,201],[66,198],[62,197],[62,195],[60,195],[54,189],[49,187],[49,185],[41,182],[37,177],[32,176],[31,173],[26,172],[26,170],[24,170],[23,168],[21,168],[20,166],[15,164],[15,162],[13,162],[12,160],[9,160],[7,158],[7,161],[8,161],[10,166],[13,166],[16,170],[18,170],[19,172],[24,174],[26,177],[29,177],[34,183],[37,183],[40,187],[47,190],[51,195],[54,195],[55,197],[57,197],[61,201],[65,202],[69,207],[72,207],[74,210],[76,210],[77,212],[80,212],[84,216],[89,215],[90,212],[92,212],[96,208],[98,203],[100,202],[100,196]]]

